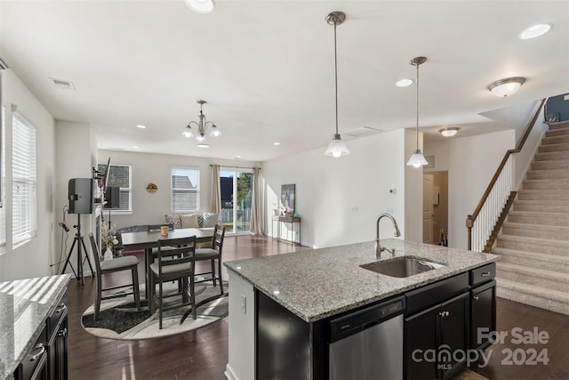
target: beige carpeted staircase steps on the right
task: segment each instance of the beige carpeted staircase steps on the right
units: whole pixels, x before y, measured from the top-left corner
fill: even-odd
[[[569,315],[569,122],[549,127],[491,252],[497,295]]]

